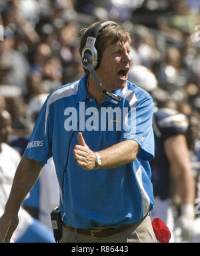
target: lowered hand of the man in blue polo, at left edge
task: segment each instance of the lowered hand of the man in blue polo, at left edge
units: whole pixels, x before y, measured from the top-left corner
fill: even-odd
[[[7,233],[7,236],[5,237],[6,243],[9,243],[9,241],[11,240],[11,236],[13,235],[13,232],[15,231],[15,229],[19,223],[18,215],[14,216],[12,218],[7,217],[7,215],[5,215],[5,214],[1,216],[1,218],[0,218],[0,242],[1,243],[3,242],[5,231],[9,225],[9,223],[10,223],[10,228]]]

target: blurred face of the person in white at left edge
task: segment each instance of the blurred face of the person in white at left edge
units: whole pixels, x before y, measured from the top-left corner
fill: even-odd
[[[2,111],[0,114],[0,143],[7,142],[11,131],[11,115],[7,111]]]

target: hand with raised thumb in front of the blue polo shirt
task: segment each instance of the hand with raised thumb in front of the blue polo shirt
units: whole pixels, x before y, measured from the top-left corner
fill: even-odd
[[[74,157],[77,159],[77,165],[86,171],[95,169],[96,155],[85,143],[82,133],[78,133],[78,141],[79,145],[75,145],[73,150]]]

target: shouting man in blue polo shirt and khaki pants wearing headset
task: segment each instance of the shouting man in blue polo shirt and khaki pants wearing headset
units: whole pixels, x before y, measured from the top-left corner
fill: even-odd
[[[86,74],[53,91],[39,113],[0,219],[0,230],[11,221],[8,240],[21,201],[53,156],[61,191],[60,242],[156,241],[148,215],[153,209],[148,162],[154,156],[153,100],[127,81],[130,43],[128,31],[113,22],[95,23],[83,34]]]

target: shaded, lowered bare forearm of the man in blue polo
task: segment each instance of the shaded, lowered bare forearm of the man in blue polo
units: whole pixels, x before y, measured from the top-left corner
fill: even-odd
[[[15,173],[9,199],[5,205],[6,214],[15,215],[18,213],[21,203],[37,181],[40,171],[40,162],[22,157]]]

